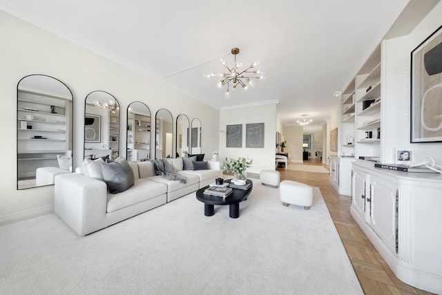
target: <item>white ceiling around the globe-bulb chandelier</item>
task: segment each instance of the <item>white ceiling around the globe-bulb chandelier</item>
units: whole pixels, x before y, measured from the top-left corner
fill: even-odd
[[[0,0],[0,9],[210,106],[278,100],[282,124],[320,124],[407,0]],[[259,60],[267,78],[230,99],[204,74]],[[173,74],[173,75],[171,75]],[[168,77],[166,77],[168,76]]]

